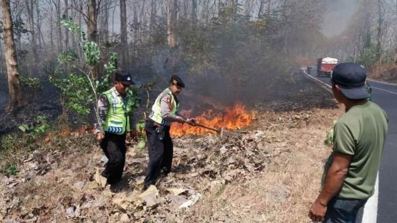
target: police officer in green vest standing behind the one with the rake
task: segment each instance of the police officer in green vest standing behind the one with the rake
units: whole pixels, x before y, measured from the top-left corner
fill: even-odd
[[[128,73],[115,72],[114,87],[102,93],[97,108],[100,125],[96,127],[97,140],[108,158],[102,176],[108,184],[118,183],[123,175],[126,161],[126,135],[136,140],[135,123],[132,117],[132,98],[128,88],[134,82]]]

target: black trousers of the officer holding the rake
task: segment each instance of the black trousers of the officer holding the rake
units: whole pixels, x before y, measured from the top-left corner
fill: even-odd
[[[146,120],[145,131],[147,137],[147,147],[149,152],[149,163],[146,169],[146,177],[144,185],[146,187],[155,184],[159,176],[160,169],[163,168],[164,173],[171,171],[172,155],[174,148],[170,136],[170,127],[165,127],[165,136],[161,141],[155,132],[157,126],[151,120]]]

